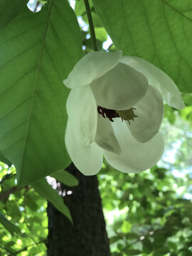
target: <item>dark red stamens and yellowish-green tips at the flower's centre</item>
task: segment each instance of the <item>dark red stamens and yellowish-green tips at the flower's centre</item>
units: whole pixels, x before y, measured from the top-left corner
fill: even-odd
[[[138,117],[136,114],[134,114],[134,110],[136,110],[134,107],[130,108],[129,110],[108,110],[105,107],[97,107],[97,112],[99,114],[102,114],[102,117],[107,117],[108,119],[110,119],[111,122],[114,122],[113,118],[115,117],[121,117],[122,121],[134,121],[134,117]]]

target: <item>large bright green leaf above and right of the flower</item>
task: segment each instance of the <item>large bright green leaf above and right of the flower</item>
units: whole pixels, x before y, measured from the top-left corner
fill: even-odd
[[[191,0],[93,0],[115,46],[164,70],[192,92]]]

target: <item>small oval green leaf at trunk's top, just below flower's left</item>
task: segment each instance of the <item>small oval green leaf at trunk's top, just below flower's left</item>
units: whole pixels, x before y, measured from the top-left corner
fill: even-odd
[[[56,180],[67,186],[78,186],[79,183],[78,178],[75,178],[72,174],[65,170],[55,171],[55,173],[50,174],[50,176],[56,178]]]

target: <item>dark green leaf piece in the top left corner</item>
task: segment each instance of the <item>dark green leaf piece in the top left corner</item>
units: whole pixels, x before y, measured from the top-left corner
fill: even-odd
[[[26,0],[1,0],[0,1],[0,28],[11,22],[26,6]]]

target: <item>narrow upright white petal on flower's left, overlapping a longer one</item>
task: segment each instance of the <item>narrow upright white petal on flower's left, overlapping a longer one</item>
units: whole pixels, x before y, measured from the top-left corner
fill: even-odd
[[[70,91],[67,112],[77,142],[90,145],[97,131],[97,105],[89,85]]]

